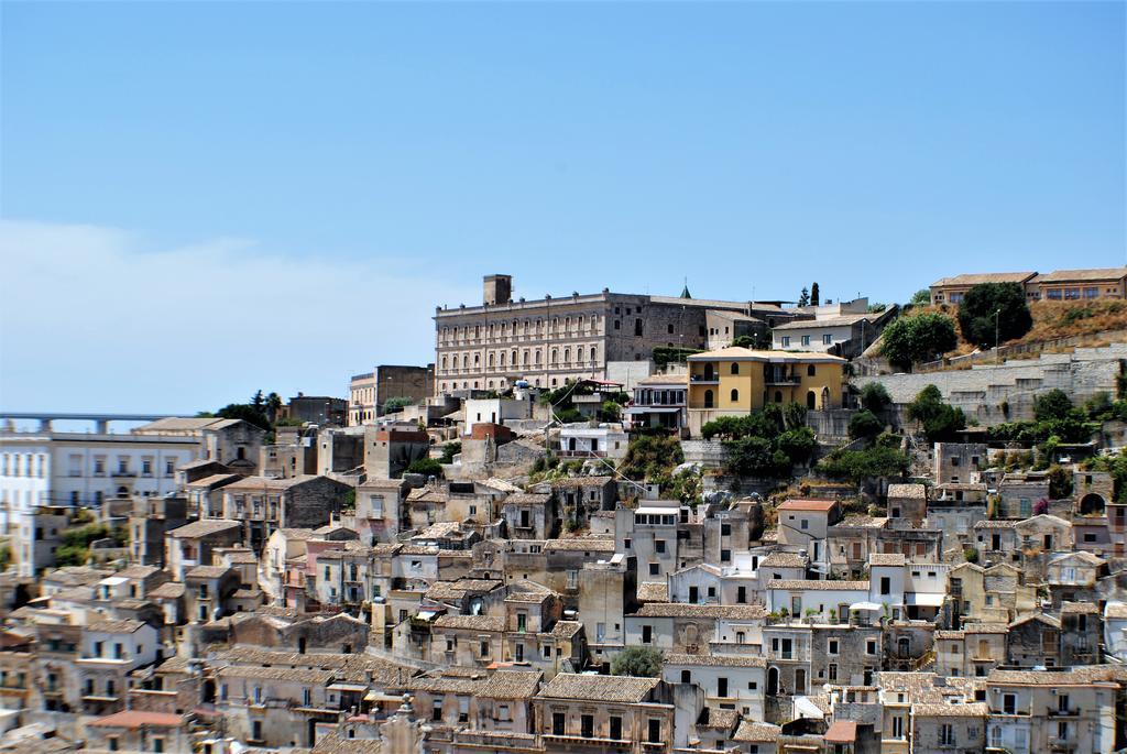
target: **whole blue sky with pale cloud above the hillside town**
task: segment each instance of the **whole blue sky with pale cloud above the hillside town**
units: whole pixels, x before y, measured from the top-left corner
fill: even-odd
[[[0,407],[343,394],[434,305],[1127,260],[1125,5],[2,5]],[[278,358],[277,354],[284,354]]]

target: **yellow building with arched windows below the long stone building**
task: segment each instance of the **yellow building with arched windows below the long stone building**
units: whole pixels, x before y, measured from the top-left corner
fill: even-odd
[[[841,408],[845,360],[829,354],[751,351],[733,346],[689,357],[689,431],[693,436],[720,416],[739,416],[766,403]]]

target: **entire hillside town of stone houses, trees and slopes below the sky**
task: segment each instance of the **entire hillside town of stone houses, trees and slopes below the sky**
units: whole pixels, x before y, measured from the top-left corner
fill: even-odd
[[[0,414],[0,753],[1127,751],[1127,267],[916,283]]]

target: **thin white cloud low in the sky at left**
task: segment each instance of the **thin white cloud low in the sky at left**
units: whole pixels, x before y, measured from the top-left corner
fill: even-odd
[[[0,408],[187,411],[255,389],[345,397],[434,357],[441,302],[479,293],[380,259],[248,239],[152,248],[110,228],[0,221]],[[396,272],[388,272],[394,269]]]

